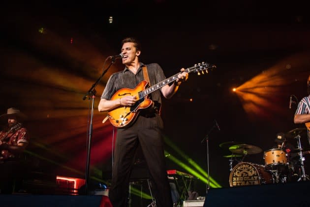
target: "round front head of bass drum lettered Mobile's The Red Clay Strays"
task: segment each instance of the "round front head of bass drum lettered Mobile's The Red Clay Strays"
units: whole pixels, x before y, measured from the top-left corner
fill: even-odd
[[[251,163],[239,163],[229,176],[230,187],[260,185],[260,174]]]

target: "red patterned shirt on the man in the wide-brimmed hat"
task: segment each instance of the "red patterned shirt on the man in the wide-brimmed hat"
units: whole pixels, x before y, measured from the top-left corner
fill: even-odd
[[[9,134],[7,132],[0,132],[0,140],[8,145],[18,145],[20,142],[29,143],[30,136],[27,132],[25,127],[20,127],[17,130],[13,130]],[[8,150],[1,150],[0,151],[0,161],[13,159],[18,155],[12,154]]]

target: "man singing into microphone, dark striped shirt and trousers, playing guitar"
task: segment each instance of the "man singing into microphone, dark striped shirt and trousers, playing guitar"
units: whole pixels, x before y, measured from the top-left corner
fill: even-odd
[[[165,80],[161,67],[156,64],[143,64],[139,61],[141,46],[132,37],[122,41],[122,62],[124,70],[111,75],[102,93],[98,110],[109,111],[120,105],[132,106],[138,97],[130,94],[111,100],[112,96],[122,88],[133,89],[142,80],[150,80],[154,85]],[[184,69],[181,69],[183,71]],[[142,110],[133,124],[125,128],[117,129],[116,146],[114,153],[112,183],[109,192],[113,207],[126,207],[128,198],[129,175],[133,158],[138,145],[141,146],[146,159],[152,181],[152,192],[155,193],[157,207],[172,207],[171,191],[166,173],[166,164],[161,137],[163,123],[160,117],[161,95],[169,99],[178,90],[181,82],[186,81],[188,73],[178,74],[178,78],[171,85],[165,85],[161,89],[151,93],[154,105]]]

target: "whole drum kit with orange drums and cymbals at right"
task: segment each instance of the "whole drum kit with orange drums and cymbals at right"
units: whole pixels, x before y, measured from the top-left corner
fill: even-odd
[[[223,156],[229,158],[230,187],[310,180],[304,168],[304,155],[310,154],[310,149],[302,148],[301,137],[304,134],[307,134],[306,128],[297,128],[286,133],[286,138],[295,140],[296,148],[290,152],[282,147],[264,151],[262,158],[265,165],[243,161],[247,155],[261,153],[263,150],[260,147],[236,141],[221,143],[221,148],[232,153]],[[296,154],[294,159],[291,159],[292,153]],[[237,162],[235,166],[234,161]]]

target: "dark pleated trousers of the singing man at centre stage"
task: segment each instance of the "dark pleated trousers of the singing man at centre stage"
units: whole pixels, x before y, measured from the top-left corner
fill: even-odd
[[[162,120],[158,114],[149,118],[138,116],[129,128],[118,129],[109,192],[113,207],[127,206],[129,176],[139,144],[150,171],[157,207],[173,206],[166,172],[162,129]]]

